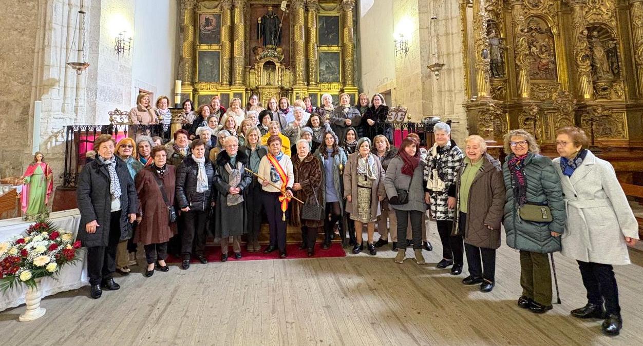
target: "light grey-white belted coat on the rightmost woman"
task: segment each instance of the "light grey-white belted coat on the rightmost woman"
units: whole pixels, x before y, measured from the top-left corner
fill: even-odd
[[[629,264],[624,237],[638,239],[638,223],[610,162],[588,151],[572,177],[554,159],[567,207],[561,253],[578,261]]]

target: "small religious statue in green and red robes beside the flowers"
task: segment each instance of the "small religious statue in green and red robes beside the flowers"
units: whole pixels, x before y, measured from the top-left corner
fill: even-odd
[[[47,203],[53,191],[53,173],[44,155],[37,151],[23,175],[20,202],[24,220],[35,220],[48,214]]]

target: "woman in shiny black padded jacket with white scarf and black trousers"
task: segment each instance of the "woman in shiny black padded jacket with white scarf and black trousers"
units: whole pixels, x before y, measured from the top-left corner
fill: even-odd
[[[214,169],[212,162],[205,156],[205,143],[195,139],[190,144],[192,153],[185,157],[177,168],[176,200],[183,214],[183,234],[181,235],[181,268],[190,268],[192,249],[195,249],[201,263],[205,258],[205,227],[210,202],[212,202]]]

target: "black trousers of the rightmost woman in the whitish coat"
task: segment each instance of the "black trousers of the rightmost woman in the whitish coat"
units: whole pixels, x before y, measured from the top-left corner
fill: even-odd
[[[605,303],[606,313],[620,313],[619,287],[611,264],[577,261],[587,290],[587,300],[592,304]]]

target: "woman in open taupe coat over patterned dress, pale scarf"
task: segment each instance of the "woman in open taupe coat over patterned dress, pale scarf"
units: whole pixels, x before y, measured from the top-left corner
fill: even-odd
[[[386,196],[384,188],[384,169],[377,157],[370,153],[370,139],[363,137],[358,141],[358,151],[350,155],[344,169],[344,197],[346,211],[355,221],[357,242],[353,254],[364,249],[362,226],[367,224],[368,253],[376,255],[373,244],[375,221],[380,214],[379,202]]]

